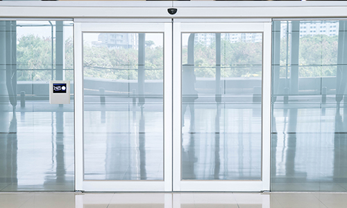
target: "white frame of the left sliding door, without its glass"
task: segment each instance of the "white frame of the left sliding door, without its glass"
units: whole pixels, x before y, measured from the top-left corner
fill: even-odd
[[[75,190],[171,191],[172,190],[172,24],[146,19],[93,22],[74,19],[75,76]],[[164,180],[84,180],[83,176],[83,33],[164,33]]]

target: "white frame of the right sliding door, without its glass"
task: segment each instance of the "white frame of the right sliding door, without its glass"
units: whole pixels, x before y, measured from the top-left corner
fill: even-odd
[[[215,21],[215,20],[212,20]],[[237,20],[236,20],[237,21]],[[271,19],[264,22],[174,21],[174,191],[269,191],[271,123]],[[263,33],[262,180],[181,180],[181,34]]]

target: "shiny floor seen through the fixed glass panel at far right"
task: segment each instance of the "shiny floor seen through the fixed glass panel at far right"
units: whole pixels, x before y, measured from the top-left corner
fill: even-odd
[[[347,191],[346,110],[274,110],[271,191]]]

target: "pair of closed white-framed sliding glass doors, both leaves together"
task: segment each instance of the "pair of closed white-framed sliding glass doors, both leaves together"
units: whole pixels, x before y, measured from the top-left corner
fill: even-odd
[[[172,26],[75,21],[76,190],[269,190],[271,22]]]

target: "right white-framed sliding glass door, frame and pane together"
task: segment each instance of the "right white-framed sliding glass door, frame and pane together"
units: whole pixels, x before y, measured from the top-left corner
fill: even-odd
[[[270,41],[269,23],[174,23],[174,191],[269,190]]]

